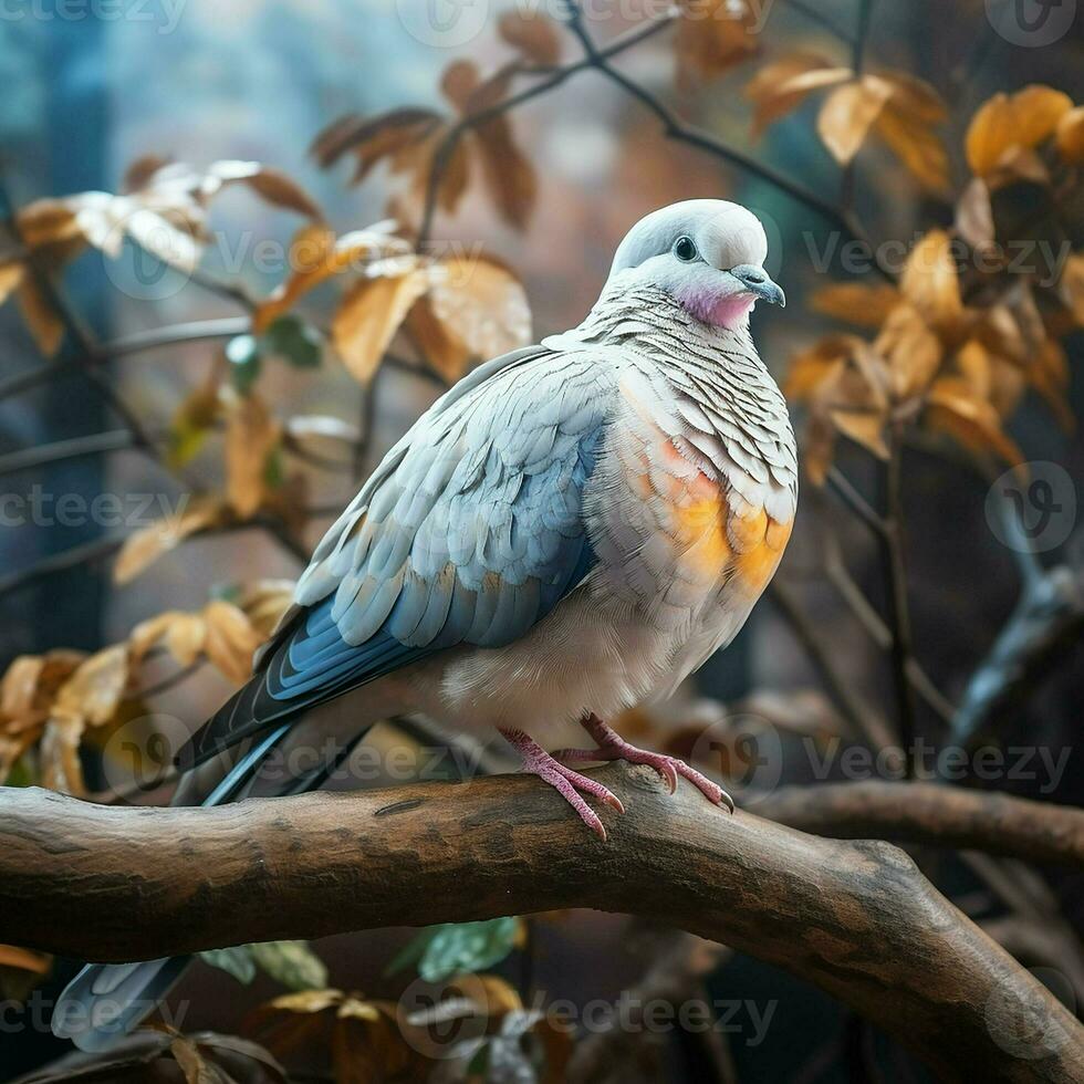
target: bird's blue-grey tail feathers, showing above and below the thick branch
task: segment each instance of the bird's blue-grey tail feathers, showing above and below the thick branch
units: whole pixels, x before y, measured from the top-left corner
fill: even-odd
[[[222,805],[243,798],[267,754],[282,741],[283,725],[259,741],[230,769],[201,805]],[[317,790],[364,738],[367,727],[319,769],[288,780],[277,793]],[[179,788],[184,791],[184,788]],[[163,1001],[180,978],[191,956],[175,956],[143,963],[88,963],[64,988],[53,1010],[52,1030],[88,1053],[110,1050]]]

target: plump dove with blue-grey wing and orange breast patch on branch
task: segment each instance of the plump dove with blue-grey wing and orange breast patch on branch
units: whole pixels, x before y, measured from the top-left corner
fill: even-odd
[[[409,712],[497,730],[603,840],[600,811],[622,803],[574,764],[645,764],[733,812],[712,780],[606,720],[729,644],[790,538],[794,432],[750,331],[758,302],[785,305],[767,258],[738,204],[655,210],[579,326],[478,366],[423,414],[317,544],[252,678],[180,751],[192,779],[246,750],[202,804],[251,792],[298,720],[334,709],[355,738]],[[593,744],[548,752],[539,738],[569,723]],[[53,1030],[107,1047],[186,962],[88,965]]]

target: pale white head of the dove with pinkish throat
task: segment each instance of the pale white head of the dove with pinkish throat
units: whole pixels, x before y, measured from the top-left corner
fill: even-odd
[[[786,304],[764,270],[767,256],[764,227],[751,211],[723,199],[689,199],[628,231],[607,284],[657,286],[698,320],[734,329],[758,301]]]

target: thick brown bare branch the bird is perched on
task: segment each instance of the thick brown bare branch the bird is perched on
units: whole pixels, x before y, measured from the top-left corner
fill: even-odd
[[[1084,1029],[895,847],[730,816],[685,783],[667,795],[643,768],[598,778],[627,809],[607,814],[608,843],[528,776],[218,809],[0,791],[0,941],[133,960],[565,907],[632,911],[815,982],[947,1080],[1084,1078]]]

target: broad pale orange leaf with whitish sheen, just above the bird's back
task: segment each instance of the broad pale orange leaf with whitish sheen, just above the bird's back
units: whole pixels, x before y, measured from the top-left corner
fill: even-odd
[[[531,310],[520,281],[491,257],[450,257],[430,272],[431,285],[408,326],[429,364],[449,384],[472,362],[531,341]]]

